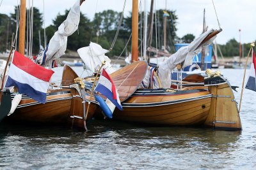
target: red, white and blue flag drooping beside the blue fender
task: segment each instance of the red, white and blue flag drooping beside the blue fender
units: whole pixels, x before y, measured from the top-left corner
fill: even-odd
[[[123,110],[120,99],[117,95],[115,84],[105,69],[102,69],[102,73],[100,75],[98,85],[95,87],[95,91],[100,92],[103,96],[106,96],[109,101],[115,104],[119,110]]]

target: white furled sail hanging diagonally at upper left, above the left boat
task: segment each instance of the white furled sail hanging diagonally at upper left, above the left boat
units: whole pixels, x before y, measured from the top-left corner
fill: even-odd
[[[67,48],[67,38],[72,35],[79,25],[80,21],[80,0],[70,9],[67,19],[58,27],[58,31],[52,36],[49,45],[45,51],[36,57],[36,62],[40,65],[49,60],[58,59],[65,54]]]

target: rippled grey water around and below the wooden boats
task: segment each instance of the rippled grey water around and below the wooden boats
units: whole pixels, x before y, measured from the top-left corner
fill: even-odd
[[[243,70],[221,72],[241,87]],[[104,121],[90,122],[88,132],[0,124],[0,169],[255,169],[255,96],[244,90],[241,132]]]

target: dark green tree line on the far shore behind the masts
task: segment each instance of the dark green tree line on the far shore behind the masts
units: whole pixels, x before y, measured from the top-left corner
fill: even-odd
[[[168,15],[164,15],[164,13]],[[28,10],[27,10],[28,15]],[[59,25],[67,18],[68,10],[65,10],[64,15],[58,13],[56,18],[52,20],[52,24],[45,28],[47,44],[54,35],[54,32],[58,30]],[[109,49],[115,38],[118,24],[122,13],[113,10],[104,10],[99,13],[95,13],[92,20],[81,13],[79,27],[74,34],[68,37],[67,49],[77,50],[83,46],[88,46],[90,42],[99,43],[102,48]],[[144,13],[139,15],[139,45],[143,45],[141,38],[143,37],[143,29],[145,23],[143,22]],[[148,14],[149,15],[149,14]],[[155,16],[155,14],[154,14]],[[166,17],[166,50],[170,53],[175,52],[175,43],[191,43],[195,36],[193,34],[186,34],[182,38],[179,38],[177,32],[177,20],[178,16],[175,11],[157,10],[157,23],[153,22],[152,30],[152,43],[159,49],[162,48],[164,42],[164,17]],[[15,12],[10,15],[0,13],[0,52],[10,49],[13,34],[15,35],[17,27],[17,6]],[[119,28],[119,34],[116,39],[115,46],[108,53],[109,57],[119,56],[125,49],[125,53],[122,55],[128,55],[131,52],[131,13],[127,17],[124,17],[122,24]],[[148,16],[149,23],[149,16]],[[40,51],[40,45],[44,46],[44,29],[43,29],[43,15],[38,8],[33,8],[33,53],[36,54]],[[150,25],[148,25],[149,27]],[[27,29],[26,29],[27,30]],[[39,35],[40,34],[40,35]],[[41,41],[40,38],[41,37]],[[19,38],[19,37],[18,37]],[[156,41],[157,40],[157,41]],[[18,41],[19,42],[19,41]],[[125,45],[126,48],[125,48]],[[18,46],[18,45],[17,45]],[[248,53],[250,50],[250,43],[244,44],[244,53]],[[139,48],[140,49],[140,48]],[[239,43],[236,39],[230,39],[225,45],[220,45],[221,52],[225,57],[232,57],[239,55]]]

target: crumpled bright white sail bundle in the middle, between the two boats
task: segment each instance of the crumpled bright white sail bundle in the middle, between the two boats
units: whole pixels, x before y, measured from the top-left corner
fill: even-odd
[[[104,69],[109,74],[115,71],[115,69],[110,64],[111,60],[108,56],[105,55],[105,53],[109,52],[109,50],[102,48],[97,43],[91,42],[89,46],[79,48],[77,52],[83,60],[86,69],[89,69],[93,72],[97,72],[102,62],[105,60],[106,64],[103,66]]]

